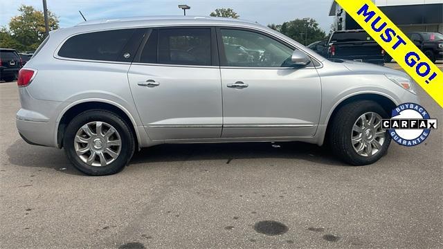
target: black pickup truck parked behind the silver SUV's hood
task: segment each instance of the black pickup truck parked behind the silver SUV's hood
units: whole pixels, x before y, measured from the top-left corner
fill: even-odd
[[[328,59],[384,64],[385,51],[365,30],[335,31],[329,39],[308,47]]]

